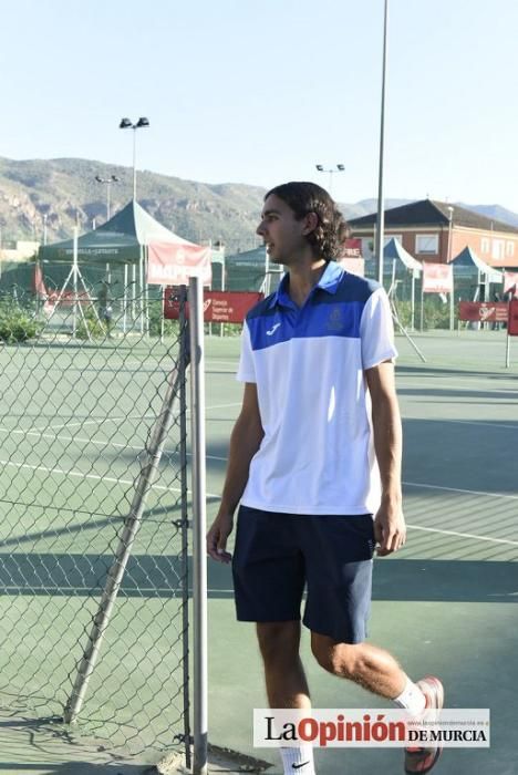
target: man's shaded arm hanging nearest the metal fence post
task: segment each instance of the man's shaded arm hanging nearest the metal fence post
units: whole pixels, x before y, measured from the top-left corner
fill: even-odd
[[[252,382],[247,382],[241,412],[230,436],[221,503],[216,519],[207,534],[207,552],[219,562],[230,562],[231,560],[231,555],[225,550],[227,538],[234,528],[234,513],[248,482],[251,459],[259,450],[263,435],[257,386]]]

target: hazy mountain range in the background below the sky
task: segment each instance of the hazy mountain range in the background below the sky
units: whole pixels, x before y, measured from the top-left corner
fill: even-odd
[[[80,234],[106,220],[106,184],[111,214],[133,195],[131,167],[81,158],[12,161],[0,157],[0,246],[14,247],[20,239],[43,241],[44,223],[49,242],[66,239],[75,224]],[[137,199],[151,215],[176,234],[195,242],[221,240],[227,252],[248,250],[259,244],[255,237],[266,189],[238,183],[207,184],[183,180],[147,170],[137,172]],[[397,207],[411,199],[386,199]],[[463,205],[464,206],[464,205]],[[343,204],[346,218],[376,210],[376,199]],[[472,207],[496,220],[518,227],[518,215],[499,205]]]

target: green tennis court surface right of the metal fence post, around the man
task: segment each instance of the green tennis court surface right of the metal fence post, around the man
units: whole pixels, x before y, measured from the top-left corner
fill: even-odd
[[[490,709],[491,747],[446,750],[434,772],[515,775],[518,340],[511,340],[510,369],[501,331],[436,331],[415,340],[426,363],[397,337],[408,540],[397,555],[375,561],[370,640],[412,678],[439,675],[448,707]],[[209,519],[239,411],[237,354],[237,341],[208,342]],[[314,706],[388,706],[325,674],[307,633],[302,648]],[[229,568],[213,561],[209,682],[210,740],[271,762],[268,772],[280,773],[277,752],[251,743],[252,709],[266,704],[253,627],[235,621]],[[315,761],[322,775],[372,775],[402,772],[402,757],[388,748],[329,748]]]

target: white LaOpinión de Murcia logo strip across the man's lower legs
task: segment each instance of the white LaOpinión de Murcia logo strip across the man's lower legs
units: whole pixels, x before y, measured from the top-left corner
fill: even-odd
[[[490,746],[489,709],[444,709],[413,717],[393,709],[256,709],[255,747],[387,748],[439,745],[452,748]]]

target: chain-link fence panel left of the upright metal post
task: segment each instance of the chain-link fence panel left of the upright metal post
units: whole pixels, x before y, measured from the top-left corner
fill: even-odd
[[[0,299],[0,701],[136,753],[189,740],[187,339],[124,299]]]

